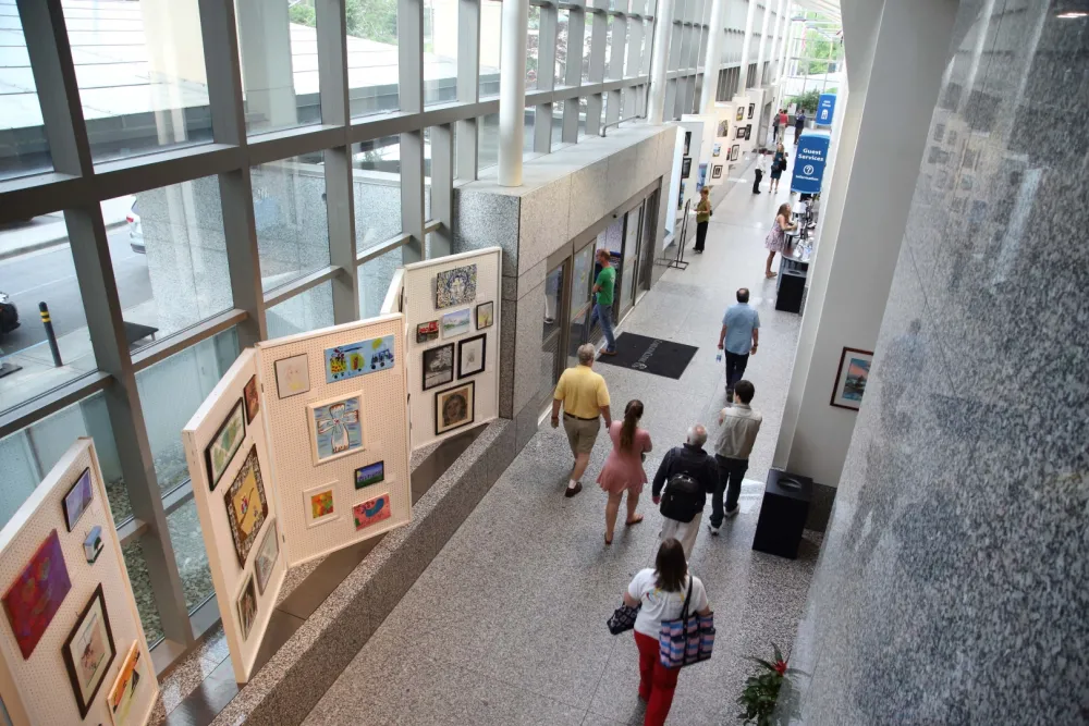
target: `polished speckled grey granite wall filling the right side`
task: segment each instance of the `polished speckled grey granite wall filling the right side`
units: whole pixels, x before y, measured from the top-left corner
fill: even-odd
[[[809,675],[780,704],[797,723],[1089,723],[1089,138],[1072,114],[1089,19],[1065,10],[960,2],[792,655]]]

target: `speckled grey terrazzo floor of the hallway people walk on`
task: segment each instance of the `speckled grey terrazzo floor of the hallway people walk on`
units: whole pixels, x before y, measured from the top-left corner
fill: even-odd
[[[723,368],[714,361],[722,312],[737,287],[751,288],[762,328],[746,378],[764,424],[742,513],[718,538],[705,528],[693,554],[718,636],[714,656],[681,674],[669,723],[685,726],[738,723],[735,700],[750,670],[742,656],[768,656],[771,642],[792,642],[818,550],[805,541],[791,562],[750,549],[800,318],[774,310],[774,281],[763,280],[762,241],[788,196],[754,196],[749,184],[736,183],[718,206],[707,253],[686,254],[688,269],[669,270],[620,327],[699,346],[684,376],[598,368],[615,410],[634,397],[645,403],[652,478],[689,424],[706,422],[713,436],[724,403]],[[632,576],[652,563],[661,517],[648,487],[639,505],[646,521],[620,527],[604,546],[605,495],[592,482],[607,454],[600,436],[584,492],[564,499],[566,441],[543,426],[305,723],[641,724],[635,643],[629,632],[610,636],[604,624]]]

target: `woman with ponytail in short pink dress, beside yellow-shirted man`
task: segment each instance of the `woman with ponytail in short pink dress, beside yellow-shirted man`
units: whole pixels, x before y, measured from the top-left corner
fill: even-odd
[[[605,544],[612,544],[612,530],[616,526],[620,501],[627,492],[627,520],[625,526],[638,525],[643,515],[635,514],[639,505],[639,494],[647,483],[647,472],[643,470],[643,457],[650,451],[650,433],[639,428],[643,418],[643,402],[629,401],[624,407],[624,421],[613,421],[609,427],[609,438],[613,450],[598,475],[598,483],[609,494],[605,504]]]

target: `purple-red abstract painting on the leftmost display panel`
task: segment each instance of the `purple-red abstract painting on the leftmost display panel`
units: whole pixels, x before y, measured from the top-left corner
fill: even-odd
[[[23,660],[30,657],[71,589],[72,580],[54,529],[3,596],[4,614]]]

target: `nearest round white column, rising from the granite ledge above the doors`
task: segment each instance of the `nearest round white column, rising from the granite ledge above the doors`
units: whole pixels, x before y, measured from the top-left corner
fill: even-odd
[[[502,33],[499,51],[499,185],[522,186],[529,0],[503,1]]]

